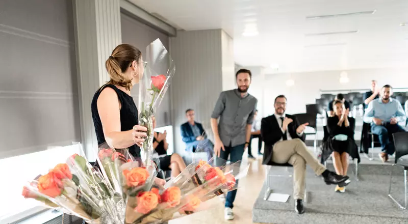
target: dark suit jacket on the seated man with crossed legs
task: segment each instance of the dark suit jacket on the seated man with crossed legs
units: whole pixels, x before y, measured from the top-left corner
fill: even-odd
[[[293,122],[288,125],[287,129],[290,136],[292,138],[300,138],[302,141],[304,141],[304,134],[299,136],[296,133],[296,129],[300,125],[299,121],[295,116],[292,115],[286,115],[286,117],[293,120]],[[279,126],[279,124],[277,123],[275,115],[271,115],[262,119],[261,136],[265,142],[264,158],[262,164],[270,163],[270,161],[272,160],[273,145],[275,145],[275,143],[277,143],[283,137],[283,135],[284,134],[282,133],[281,126]]]

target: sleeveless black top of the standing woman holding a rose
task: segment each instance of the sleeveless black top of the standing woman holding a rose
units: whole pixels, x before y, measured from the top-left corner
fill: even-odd
[[[98,140],[98,145],[106,142],[104,130],[102,128],[102,123],[100,122],[98,106],[97,106],[97,100],[99,98],[99,95],[105,88],[112,88],[118,95],[118,99],[121,105],[120,131],[132,130],[133,126],[139,123],[139,118],[138,118],[139,112],[131,96],[119,90],[117,87],[115,87],[115,85],[112,85],[112,84],[106,84],[100,87],[96,91],[95,95],[93,96],[92,103],[91,103],[92,120],[93,120],[93,125],[95,126],[95,132],[96,132],[96,138]],[[138,147],[136,144],[129,147],[129,152],[134,157],[140,157],[140,147]]]

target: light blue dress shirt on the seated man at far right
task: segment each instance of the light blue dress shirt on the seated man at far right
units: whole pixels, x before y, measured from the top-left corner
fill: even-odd
[[[390,98],[388,103],[382,102],[381,98],[372,100],[368,104],[364,121],[371,123],[373,118],[381,119],[382,122],[390,122],[391,118],[397,118],[398,122],[405,121],[405,112],[398,100]]]

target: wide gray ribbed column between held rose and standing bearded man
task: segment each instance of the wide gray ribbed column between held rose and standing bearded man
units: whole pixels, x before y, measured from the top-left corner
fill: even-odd
[[[232,38],[223,30],[179,31],[170,38],[171,57],[176,73],[171,83],[174,149],[183,155],[180,125],[187,122],[187,108],[195,110],[210,138],[210,117],[219,94],[234,89]]]

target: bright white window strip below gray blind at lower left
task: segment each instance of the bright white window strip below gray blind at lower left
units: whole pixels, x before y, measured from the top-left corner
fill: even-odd
[[[27,215],[30,210],[38,210],[41,203],[21,196],[22,187],[39,174],[45,174],[58,163],[81,151],[80,145],[49,147],[50,149],[5,159],[0,159],[0,222],[16,221],[17,214]]]

